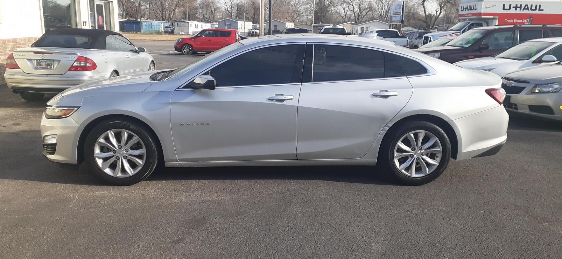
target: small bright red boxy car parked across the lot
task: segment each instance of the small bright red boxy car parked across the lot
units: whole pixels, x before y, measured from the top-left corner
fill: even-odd
[[[213,52],[239,41],[237,30],[205,29],[191,38],[177,39],[174,49],[184,55],[197,52]]]

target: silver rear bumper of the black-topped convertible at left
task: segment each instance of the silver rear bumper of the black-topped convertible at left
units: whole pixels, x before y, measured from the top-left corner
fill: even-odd
[[[72,86],[105,79],[109,76],[110,74],[106,75],[96,71],[69,71],[64,75],[31,75],[11,68],[6,69],[4,74],[10,90],[25,90],[42,94],[58,93]]]

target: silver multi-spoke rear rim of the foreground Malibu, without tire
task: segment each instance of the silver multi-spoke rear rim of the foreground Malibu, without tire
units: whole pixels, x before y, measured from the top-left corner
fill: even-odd
[[[441,161],[441,141],[428,131],[412,131],[398,140],[394,148],[396,168],[409,177],[433,172]]]

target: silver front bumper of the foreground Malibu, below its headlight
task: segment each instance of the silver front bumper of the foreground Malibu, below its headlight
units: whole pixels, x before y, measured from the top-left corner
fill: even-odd
[[[78,164],[78,140],[84,130],[72,117],[62,119],[41,119],[41,140],[46,135],[57,135],[55,154],[53,147],[43,151],[43,155],[56,163]]]

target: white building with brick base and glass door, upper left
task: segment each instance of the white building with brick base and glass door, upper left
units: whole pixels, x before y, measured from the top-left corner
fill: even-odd
[[[49,30],[85,28],[119,31],[117,0],[0,0],[0,84],[6,58]]]

